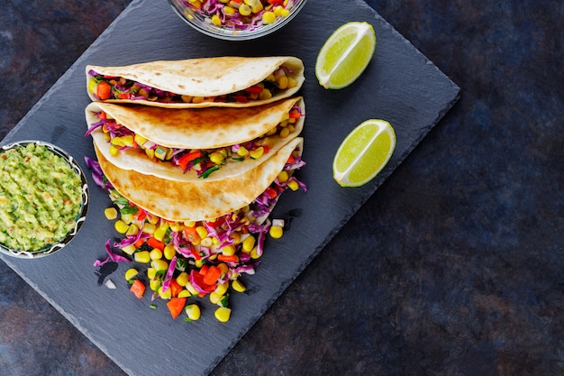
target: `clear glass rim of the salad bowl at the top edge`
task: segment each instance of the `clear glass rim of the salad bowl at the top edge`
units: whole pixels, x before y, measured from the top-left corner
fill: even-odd
[[[294,5],[292,7],[292,11],[286,17],[280,19],[279,22],[270,23],[267,26],[261,26],[252,31],[240,30],[240,31],[233,31],[232,29],[226,27],[219,27],[214,26],[213,24],[207,25],[208,28],[204,28],[194,21],[188,19],[186,14],[183,14],[180,9],[178,9],[177,0],[168,0],[168,4],[171,5],[172,9],[175,13],[184,20],[188,25],[192,28],[196,29],[198,32],[202,32],[207,36],[211,36],[217,39],[222,39],[224,41],[250,41],[253,39],[257,39],[263,36],[266,36],[272,32],[276,32],[278,29],[282,28],[284,25],[289,23],[297,14],[300,13],[302,8],[307,3],[307,0],[294,0]],[[189,8],[188,10],[192,10]],[[195,13],[192,13],[195,14]],[[200,17],[198,17],[200,18]]]

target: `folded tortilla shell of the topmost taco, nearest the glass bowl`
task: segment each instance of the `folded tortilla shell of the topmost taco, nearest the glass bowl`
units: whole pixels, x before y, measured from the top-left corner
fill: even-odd
[[[275,88],[269,98],[244,100],[245,89],[263,83],[270,87],[271,74],[287,75],[295,80],[294,87]],[[151,90],[148,98],[137,95],[124,95],[123,98],[100,98],[95,95],[96,84],[93,75],[102,75],[119,80],[125,78],[131,84]],[[266,81],[265,81],[266,80]],[[114,103],[137,103],[161,107],[197,108],[209,106],[243,107],[263,105],[293,96],[304,83],[304,63],[295,57],[216,57],[190,60],[159,60],[121,67],[86,66],[86,85],[88,96],[93,101],[105,100]],[[117,87],[123,88],[117,84]],[[155,94],[164,91],[165,98],[156,99]],[[125,90],[131,94],[131,90]],[[133,90],[134,91],[134,90]],[[144,93],[143,93],[144,95]],[[197,99],[194,99],[197,98]],[[186,102],[189,101],[189,102]],[[246,101],[246,102],[245,102]]]

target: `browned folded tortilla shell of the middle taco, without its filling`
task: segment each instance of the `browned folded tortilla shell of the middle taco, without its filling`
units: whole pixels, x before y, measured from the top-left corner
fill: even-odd
[[[154,175],[162,179],[184,182],[202,180],[220,180],[238,176],[259,166],[270,155],[276,153],[287,142],[296,138],[302,132],[305,122],[305,103],[302,97],[283,99],[276,103],[241,108],[185,108],[170,109],[151,106],[125,106],[102,102],[93,102],[86,106],[86,123],[90,128],[99,122],[96,114],[104,111],[106,115],[115,119],[135,134],[144,139],[166,148],[175,150],[205,151],[211,153],[227,147],[232,152],[232,145],[259,145],[261,137],[274,132],[279,124],[285,122],[291,111],[299,107],[300,117],[292,126],[290,133],[284,137],[280,133],[268,135],[268,151],[256,159],[245,158],[239,160],[238,155],[232,153],[225,158],[207,178],[202,179],[196,170],[184,171],[172,161],[161,161],[155,157],[148,157],[139,148],[131,147],[117,153],[111,152],[111,143],[105,138],[101,127],[92,131],[93,142],[106,160],[122,170],[136,170],[146,175]],[[263,150],[267,150],[263,147]],[[223,151],[224,152],[224,151]],[[178,153],[178,156],[183,155]]]

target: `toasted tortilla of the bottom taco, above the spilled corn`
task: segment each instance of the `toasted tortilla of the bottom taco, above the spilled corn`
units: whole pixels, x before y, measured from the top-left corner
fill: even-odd
[[[155,216],[170,221],[214,220],[249,205],[277,179],[293,153],[301,155],[304,140],[296,137],[245,173],[223,180],[186,183],[120,169],[95,145],[105,177],[125,198]]]

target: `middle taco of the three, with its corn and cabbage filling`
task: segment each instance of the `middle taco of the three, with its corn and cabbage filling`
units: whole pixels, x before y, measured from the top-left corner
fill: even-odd
[[[302,97],[242,108],[169,109],[92,102],[86,123],[106,160],[177,181],[241,175],[301,133]]]

